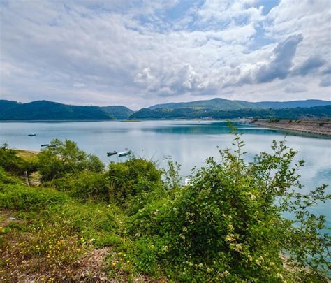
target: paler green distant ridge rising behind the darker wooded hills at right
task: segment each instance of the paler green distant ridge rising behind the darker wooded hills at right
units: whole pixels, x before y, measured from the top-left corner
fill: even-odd
[[[191,102],[179,103],[165,103],[156,104],[149,107],[151,110],[155,109],[177,109],[177,108],[205,108],[208,110],[240,110],[244,108],[258,109],[258,108],[296,108],[296,107],[313,107],[331,105],[331,101],[323,101],[317,99],[310,99],[304,101],[262,101],[262,102],[248,102],[228,99],[210,99]]]

